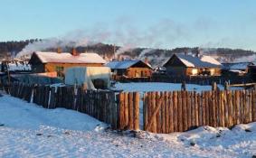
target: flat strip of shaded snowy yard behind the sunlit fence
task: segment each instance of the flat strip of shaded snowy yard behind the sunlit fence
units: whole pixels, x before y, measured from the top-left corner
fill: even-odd
[[[223,89],[222,85],[218,88]],[[116,83],[115,89],[124,91],[174,91],[181,90],[181,83],[164,83],[164,82],[130,82],[130,83]],[[195,84],[186,84],[186,90],[201,92],[203,90],[212,90],[212,86],[200,86]]]

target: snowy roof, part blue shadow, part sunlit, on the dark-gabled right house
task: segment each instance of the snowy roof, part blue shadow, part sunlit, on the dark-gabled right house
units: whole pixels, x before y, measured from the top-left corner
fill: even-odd
[[[195,67],[195,68],[215,68],[221,67],[222,64],[214,60],[210,56],[201,56],[201,57],[194,57],[192,55],[185,55],[185,54],[175,54],[176,57],[181,60],[186,67]]]

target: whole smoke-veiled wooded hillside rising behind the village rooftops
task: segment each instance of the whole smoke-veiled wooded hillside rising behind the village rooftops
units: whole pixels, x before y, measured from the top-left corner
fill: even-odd
[[[41,42],[41,40],[26,40],[21,42],[0,42],[0,58],[6,58],[14,56],[19,51],[22,51],[25,46]],[[56,46],[57,48],[58,46]],[[56,51],[56,48],[45,47],[43,50],[36,51]],[[139,58],[143,60],[145,57],[149,59],[153,66],[160,66],[165,62],[172,54],[181,53],[181,52],[191,52],[196,54],[197,51],[200,51],[202,54],[207,54],[213,56],[216,60],[221,62],[239,62],[239,61],[255,61],[256,52],[255,51],[246,51],[242,49],[229,49],[229,48],[175,48],[172,50],[163,50],[163,49],[151,49],[151,48],[128,48],[123,49],[119,46],[113,44],[104,44],[97,43],[87,46],[77,46],[78,51],[95,51],[102,56],[112,59],[114,52],[117,54],[124,54],[130,56],[131,58]],[[62,46],[62,51],[71,51],[71,46]]]

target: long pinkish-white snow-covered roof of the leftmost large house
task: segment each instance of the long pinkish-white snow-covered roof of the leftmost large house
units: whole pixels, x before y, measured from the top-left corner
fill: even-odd
[[[93,52],[81,53],[76,56],[70,52],[35,51],[34,53],[43,63],[106,63],[106,60],[103,60],[99,54]]]

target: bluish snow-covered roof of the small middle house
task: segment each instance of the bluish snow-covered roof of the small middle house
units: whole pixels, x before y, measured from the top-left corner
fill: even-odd
[[[124,70],[137,64],[137,62],[143,62],[142,60],[114,60],[110,61],[106,66],[111,70]],[[143,62],[145,63],[145,62]],[[149,68],[152,68],[149,64],[145,63]]]

